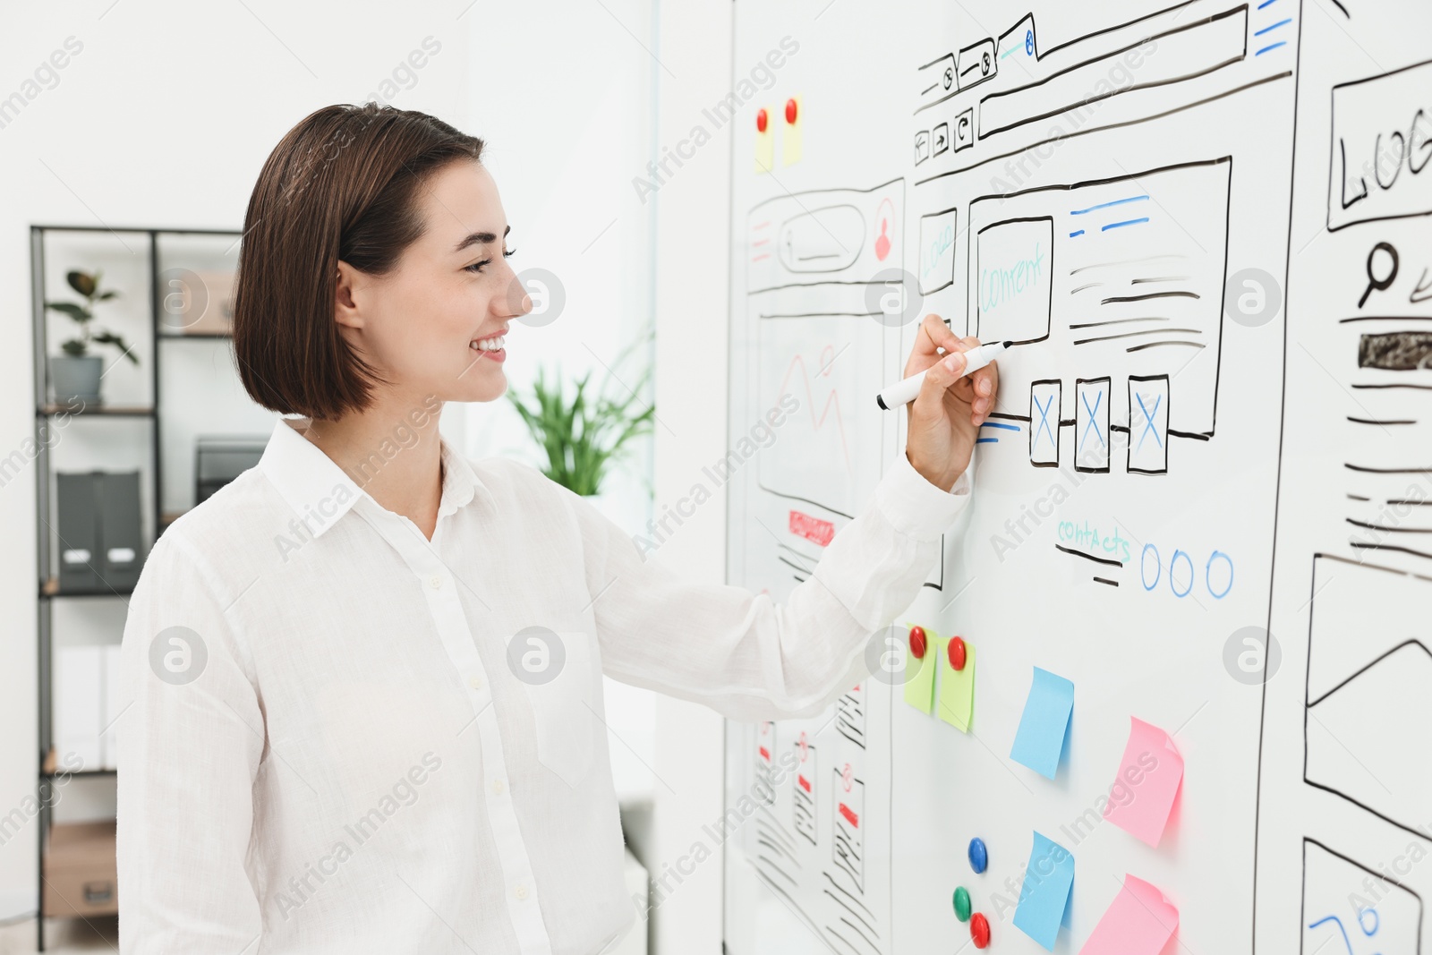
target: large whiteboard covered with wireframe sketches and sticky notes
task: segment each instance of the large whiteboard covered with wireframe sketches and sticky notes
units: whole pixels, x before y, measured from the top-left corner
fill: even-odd
[[[895,620],[977,650],[969,732],[879,679],[727,724],[726,951],[974,951],[957,886],[992,951],[1045,951],[1014,924],[1042,833],[1057,952],[1126,875],[1177,908],[1166,952],[1432,952],[1432,7],[735,24],[693,117],[733,129],[732,447],[799,411],[730,477],[729,581],[783,598],[868,504],[921,315],[1017,345]],[[1075,687],[1053,779],[1010,756],[1035,667]],[[1131,719],[1184,765],[1157,845],[1103,818]]]

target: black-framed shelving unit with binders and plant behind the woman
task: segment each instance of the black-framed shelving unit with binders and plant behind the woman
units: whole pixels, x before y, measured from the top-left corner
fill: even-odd
[[[39,670],[39,852],[37,871],[42,886],[40,911],[36,919],[37,948],[44,951],[44,901],[53,892],[46,886],[46,853],[54,830],[56,787],[70,779],[116,779],[117,770],[86,767],[66,772],[56,763],[54,719],[53,719],[53,653],[57,643],[117,643],[113,627],[99,627],[107,639],[74,640],[74,634],[60,634],[56,629],[56,611],[69,601],[74,607],[103,609],[116,600],[125,600],[130,590],[119,588],[109,593],[66,593],[59,586],[57,543],[56,543],[56,460],[66,455],[79,465],[64,470],[113,468],[113,458],[129,454],[119,467],[140,471],[140,528],[145,540],[145,554],[185,510],[193,505],[193,480],[188,487],[182,475],[192,467],[192,447],[188,458],[182,454],[183,442],[199,434],[199,427],[218,424],[213,434],[266,435],[272,428],[274,415],[255,405],[238,381],[232,365],[229,335],[213,331],[186,332],[170,308],[176,302],[176,289],[202,283],[203,273],[233,271],[238,262],[238,245],[242,233],[229,229],[156,229],[156,228],[87,228],[87,226],[30,226],[32,301],[34,332],[34,465],[36,465],[36,541],[37,541],[37,670]],[[54,245],[64,246],[60,259]],[[139,263],[143,259],[143,263]],[[97,265],[99,263],[99,265]],[[122,273],[116,281],[110,265]],[[99,306],[96,325],[115,326],[126,335],[133,352],[139,357],[137,369],[127,367],[116,349],[97,346],[106,361],[106,401],[115,392],[115,404],[96,407],[70,407],[57,401],[50,389],[49,357],[57,348],[52,339],[69,325],[67,318],[46,309],[46,301],[73,298],[63,282],[64,272],[72,269],[105,269],[105,285],[117,288],[120,296]],[[129,278],[123,278],[127,275]],[[59,279],[56,281],[56,276]],[[176,285],[176,282],[179,285]],[[209,292],[208,308],[216,306]],[[145,305],[139,305],[147,298]],[[127,322],[127,324],[126,324]],[[231,355],[223,362],[221,352]],[[208,368],[205,362],[208,361]],[[116,371],[113,379],[109,372]],[[202,382],[202,391],[196,387]],[[63,397],[62,397],[63,398]],[[196,424],[198,422],[198,424]],[[116,434],[129,430],[133,434]],[[117,438],[117,441],[116,441]],[[166,438],[169,447],[166,448]],[[143,447],[136,447],[142,440]],[[192,444],[192,441],[189,441]],[[178,448],[178,450],[176,450]],[[137,465],[137,467],[136,467]],[[63,464],[62,464],[63,468]],[[146,474],[147,470],[147,474]],[[145,493],[147,490],[147,494]],[[189,491],[186,495],[186,490]],[[126,601],[127,603],[127,601]],[[113,611],[112,611],[113,613]],[[70,623],[79,623],[86,613]],[[103,616],[90,613],[89,616]],[[87,621],[93,623],[93,621]],[[100,820],[103,822],[103,820]],[[62,823],[63,825],[63,823]],[[76,823],[84,826],[84,823]],[[110,822],[110,828],[112,828]],[[89,829],[103,826],[89,825]],[[79,835],[82,829],[76,829]],[[89,895],[86,892],[86,895]],[[95,899],[90,899],[93,903]],[[105,908],[107,903],[100,903]],[[117,911],[117,898],[113,902]],[[84,913],[99,909],[95,905],[77,906]],[[53,912],[50,913],[53,915]]]

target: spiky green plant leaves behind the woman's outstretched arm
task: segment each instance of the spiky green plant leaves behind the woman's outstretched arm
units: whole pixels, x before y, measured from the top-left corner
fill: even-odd
[[[541,472],[577,494],[593,497],[611,464],[620,458],[627,444],[652,430],[656,405],[640,405],[639,394],[650,381],[650,371],[636,382],[626,397],[613,398],[600,388],[589,394],[591,372],[577,379],[569,399],[561,382],[548,382],[546,369],[537,369],[537,381],[530,395],[507,392],[533,440],[547,455]]]

